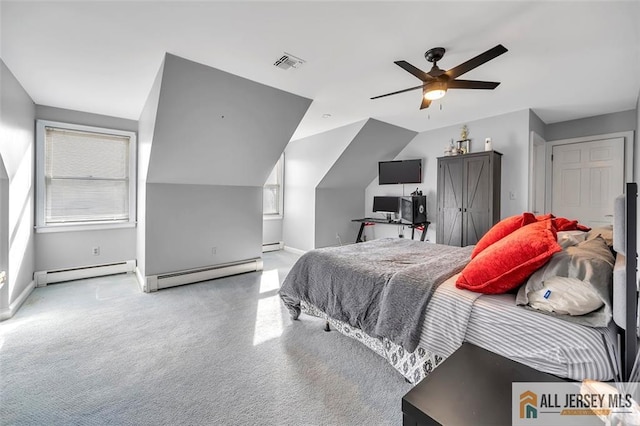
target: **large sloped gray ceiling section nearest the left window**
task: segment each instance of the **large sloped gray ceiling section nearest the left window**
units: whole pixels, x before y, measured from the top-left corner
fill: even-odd
[[[167,54],[147,182],[262,186],[310,103]]]

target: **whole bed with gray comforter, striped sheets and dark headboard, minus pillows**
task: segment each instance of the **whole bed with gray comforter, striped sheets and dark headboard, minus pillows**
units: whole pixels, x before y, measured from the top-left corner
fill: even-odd
[[[597,311],[606,313],[606,322],[595,313],[582,318],[518,306],[522,286],[503,294],[460,288],[474,247],[404,239],[307,252],[280,296],[292,318],[305,313],[325,319],[327,328],[365,344],[412,383],[463,342],[559,377],[625,380],[637,347],[637,185],[627,184],[625,194],[615,208],[613,294]],[[551,264],[546,259],[529,272],[527,285]]]

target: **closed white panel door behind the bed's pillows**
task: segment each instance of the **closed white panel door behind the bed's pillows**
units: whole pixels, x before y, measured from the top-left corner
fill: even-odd
[[[556,145],[551,212],[595,227],[611,224],[624,191],[624,138]]]

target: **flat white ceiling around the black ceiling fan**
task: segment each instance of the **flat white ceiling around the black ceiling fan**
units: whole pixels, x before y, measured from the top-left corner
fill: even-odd
[[[546,123],[635,108],[639,1],[4,1],[0,57],[34,102],[137,120],[165,52],[313,99],[294,139],[368,117],[415,131],[532,108]],[[424,52],[493,91],[451,90],[420,111]],[[283,52],[307,62],[273,66]],[[440,104],[442,108],[440,109]],[[323,118],[331,114],[330,118]]]

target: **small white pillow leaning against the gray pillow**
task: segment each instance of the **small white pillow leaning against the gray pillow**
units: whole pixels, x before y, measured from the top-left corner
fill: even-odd
[[[527,296],[532,308],[561,315],[584,315],[604,305],[593,286],[577,278],[550,277]]]

